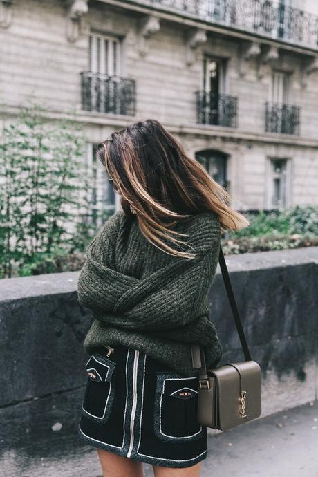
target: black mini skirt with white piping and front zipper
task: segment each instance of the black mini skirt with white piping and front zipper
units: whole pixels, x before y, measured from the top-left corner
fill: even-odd
[[[197,377],[123,345],[96,348],[86,373],[78,433],[88,445],[163,467],[206,458]]]

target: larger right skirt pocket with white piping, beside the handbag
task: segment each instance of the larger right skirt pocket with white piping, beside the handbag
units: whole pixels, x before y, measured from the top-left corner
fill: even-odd
[[[157,373],[153,425],[166,442],[196,440],[204,429],[198,424],[198,378]]]

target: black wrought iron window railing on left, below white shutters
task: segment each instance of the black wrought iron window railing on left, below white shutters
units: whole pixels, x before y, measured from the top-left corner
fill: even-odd
[[[86,111],[133,116],[135,81],[102,73],[81,73],[82,108]]]

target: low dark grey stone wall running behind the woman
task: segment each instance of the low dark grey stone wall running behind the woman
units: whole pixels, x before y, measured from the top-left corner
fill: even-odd
[[[252,358],[263,371],[262,415],[314,400],[318,247],[225,258]],[[50,395],[58,402],[84,389],[82,342],[91,315],[77,301],[77,275],[1,280],[2,408]],[[243,359],[219,265],[209,299],[222,363]]]

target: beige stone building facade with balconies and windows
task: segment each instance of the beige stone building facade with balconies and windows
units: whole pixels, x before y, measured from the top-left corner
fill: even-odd
[[[0,0],[0,120],[27,100],[89,138],[92,207],[119,207],[94,153],[155,118],[238,210],[318,204],[318,2]]]

